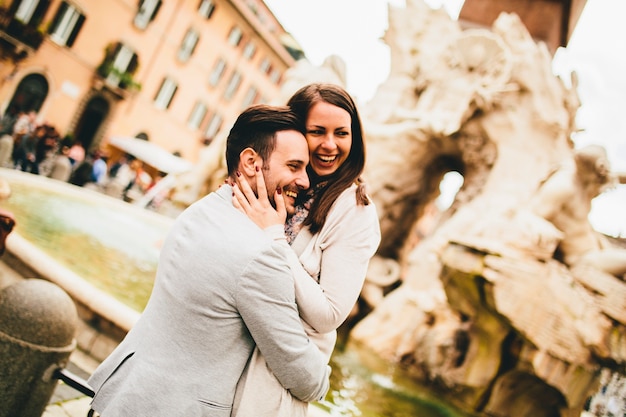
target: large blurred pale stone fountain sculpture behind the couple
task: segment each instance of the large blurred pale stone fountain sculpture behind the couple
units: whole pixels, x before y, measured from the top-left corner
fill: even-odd
[[[382,243],[350,343],[477,414],[579,416],[601,369],[626,361],[626,249],[587,220],[618,176],[604,149],[571,139],[575,75],[555,77],[513,14],[463,30],[407,0],[389,7],[383,40],[390,75],[361,105]],[[302,65],[285,100],[345,79],[336,60],[308,77]],[[223,142],[209,148],[205,190],[224,178]],[[464,183],[433,215],[451,171]]]

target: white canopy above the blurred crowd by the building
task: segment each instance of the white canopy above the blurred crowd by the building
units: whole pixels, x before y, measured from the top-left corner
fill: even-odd
[[[109,140],[109,144],[166,174],[180,174],[193,168],[190,161],[173,155],[147,140],[114,136]]]

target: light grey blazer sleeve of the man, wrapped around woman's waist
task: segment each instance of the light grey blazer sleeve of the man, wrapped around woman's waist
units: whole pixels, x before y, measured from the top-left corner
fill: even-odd
[[[237,286],[237,308],[280,383],[302,401],[319,401],[328,391],[330,369],[306,336],[292,272],[284,253],[276,249],[274,244],[245,268]]]

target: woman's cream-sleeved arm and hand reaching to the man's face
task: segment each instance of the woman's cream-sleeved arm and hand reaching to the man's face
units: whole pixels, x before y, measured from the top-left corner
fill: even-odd
[[[355,189],[350,187],[337,198],[324,227],[311,237],[298,257],[284,237],[283,225],[276,227],[280,218],[277,212],[284,210],[284,206],[280,208],[282,196],[275,193],[278,210],[272,213],[262,176],[257,172],[258,197],[246,181],[238,181],[233,187],[233,203],[281,242],[294,273],[302,318],[319,333],[334,331],[354,307],[369,260],[380,243],[376,209],[373,204],[358,206]]]

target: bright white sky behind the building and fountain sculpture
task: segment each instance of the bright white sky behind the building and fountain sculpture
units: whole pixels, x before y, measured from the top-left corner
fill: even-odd
[[[456,19],[463,0],[425,0]],[[388,26],[387,5],[404,0],[265,0],[308,60],[321,65],[330,55],[346,63],[347,89],[365,103],[389,74],[389,48],[381,40]],[[611,167],[626,172],[626,16],[625,0],[587,0],[567,48],[557,51],[555,74],[576,71],[582,106],[577,147],[601,144]],[[454,186],[449,187],[451,189]],[[600,232],[626,237],[626,185],[593,202],[590,221]]]

